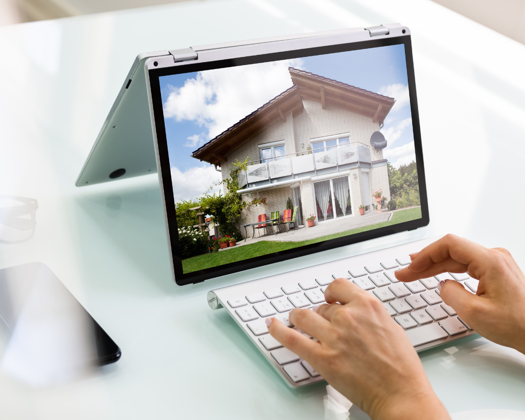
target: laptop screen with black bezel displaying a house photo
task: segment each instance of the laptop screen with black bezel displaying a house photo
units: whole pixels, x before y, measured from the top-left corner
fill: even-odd
[[[160,76],[179,275],[428,223],[406,51],[293,51]]]

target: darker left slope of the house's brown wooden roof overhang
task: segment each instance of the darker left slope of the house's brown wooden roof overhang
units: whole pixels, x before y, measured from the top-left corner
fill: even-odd
[[[211,164],[227,162],[226,155],[271,123],[281,119],[286,121],[290,111],[293,117],[303,110],[302,98],[297,86],[285,90],[265,103],[232,127],[193,152],[193,157]]]

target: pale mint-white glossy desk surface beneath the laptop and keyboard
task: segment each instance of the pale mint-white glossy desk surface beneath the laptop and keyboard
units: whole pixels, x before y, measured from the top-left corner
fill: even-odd
[[[156,175],[75,187],[138,53],[389,22],[412,31],[428,227],[175,287]],[[122,349],[119,362],[65,387],[0,373],[2,418],[322,419],[324,384],[288,388],[233,320],[208,308],[208,290],[447,232],[506,247],[525,268],[525,46],[435,3],[178,3],[3,27],[0,54],[0,194],[39,204],[35,237],[0,244],[0,267],[45,262]],[[108,206],[114,196],[120,209]],[[456,344],[453,364],[443,348],[420,354],[438,396],[451,413],[525,412],[525,359],[472,350],[482,344]]]

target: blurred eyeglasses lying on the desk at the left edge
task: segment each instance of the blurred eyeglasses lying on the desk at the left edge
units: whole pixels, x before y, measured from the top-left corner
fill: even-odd
[[[35,235],[38,203],[34,198],[0,195],[0,243],[19,244]]]

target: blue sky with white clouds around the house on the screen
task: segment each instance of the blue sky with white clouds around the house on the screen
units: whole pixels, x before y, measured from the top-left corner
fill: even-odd
[[[381,132],[395,167],[415,160],[403,45],[206,70],[160,78],[175,201],[204,193],[220,173],[194,150],[292,86],[288,67],[396,99]],[[216,189],[218,191],[218,189]]]

